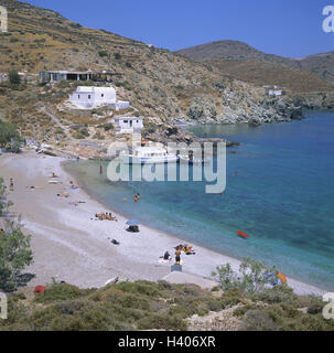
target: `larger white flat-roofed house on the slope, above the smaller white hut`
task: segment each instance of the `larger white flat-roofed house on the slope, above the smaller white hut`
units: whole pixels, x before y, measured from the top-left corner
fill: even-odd
[[[112,87],[78,86],[69,96],[69,101],[79,108],[116,104],[116,89]]]

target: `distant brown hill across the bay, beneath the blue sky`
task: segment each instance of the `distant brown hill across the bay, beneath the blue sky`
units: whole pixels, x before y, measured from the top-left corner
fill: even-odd
[[[334,53],[289,58],[262,53],[238,41],[218,41],[177,53],[259,86],[276,84],[293,94],[334,90]]]

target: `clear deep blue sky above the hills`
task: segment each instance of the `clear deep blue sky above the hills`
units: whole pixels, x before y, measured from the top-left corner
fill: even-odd
[[[21,0],[23,1],[23,0]],[[24,0],[83,25],[177,50],[238,40],[266,53],[302,57],[334,51],[322,10],[334,0]]]

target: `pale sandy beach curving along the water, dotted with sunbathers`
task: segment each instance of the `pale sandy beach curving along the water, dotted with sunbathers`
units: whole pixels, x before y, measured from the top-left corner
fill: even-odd
[[[0,176],[8,184],[14,179],[9,200],[12,210],[21,215],[21,223],[32,236],[34,264],[26,268],[35,274],[29,286],[51,282],[52,278],[78,287],[101,287],[115,277],[121,279],[158,280],[170,274],[171,264],[161,264],[165,250],[174,254],[174,246],[185,240],[142,225],[139,234],[126,231],[127,218],[116,214],[118,222],[95,221],[94,215],[108,207],[94,200],[83,189],[69,190],[74,178],[65,172],[65,159],[24,152],[0,156]],[[49,184],[52,172],[58,184]],[[30,189],[30,186],[41,189]],[[66,191],[69,196],[56,194]],[[77,206],[71,201],[83,201]],[[111,239],[120,242],[119,246]],[[188,243],[188,242],[187,242]],[[211,277],[216,266],[230,263],[237,269],[239,260],[195,244],[195,256],[183,256],[183,271]],[[325,290],[289,278],[297,293],[322,295]]]

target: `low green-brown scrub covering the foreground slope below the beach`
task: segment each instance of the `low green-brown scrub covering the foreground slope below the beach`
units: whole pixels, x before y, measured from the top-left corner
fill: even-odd
[[[235,308],[238,330],[333,331],[334,320],[322,315],[324,304],[321,298],[294,295],[288,286],[250,295],[238,288],[208,291],[165,281],[126,281],[99,289],[54,281],[34,299],[22,292],[11,296],[0,330],[187,330],[194,314],[201,319],[219,312],[223,318],[225,310]],[[226,324],[223,321],[222,329]]]

